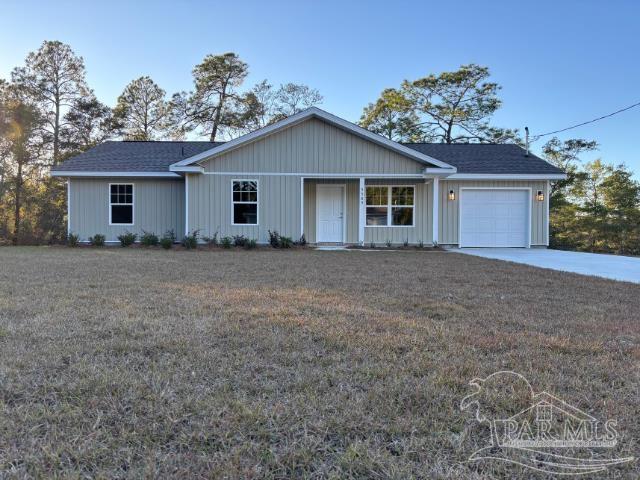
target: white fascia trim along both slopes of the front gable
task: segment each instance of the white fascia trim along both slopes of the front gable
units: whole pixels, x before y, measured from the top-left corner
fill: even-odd
[[[232,150],[234,148],[237,148],[241,145],[244,145],[246,143],[250,143],[253,142],[255,140],[257,140],[258,138],[262,138],[262,137],[266,137],[267,135],[271,135],[275,132],[278,132],[280,130],[283,130],[287,127],[290,127],[292,125],[295,125],[297,123],[300,123],[308,118],[319,118],[322,119],[324,121],[326,121],[327,123],[330,123],[336,127],[342,128],[343,130],[347,130],[351,133],[353,133],[354,135],[357,135],[361,138],[364,138],[366,140],[369,140],[373,143],[376,143],[378,145],[381,145],[383,147],[386,147],[390,150],[393,150],[401,155],[404,155],[406,157],[412,158],[413,160],[416,160],[420,163],[426,163],[426,164],[431,164],[431,165],[435,165],[437,167],[441,167],[441,168],[454,168],[451,165],[444,163],[440,160],[437,160],[435,158],[432,158],[428,155],[425,155],[423,153],[418,152],[417,150],[413,150],[409,147],[405,147],[404,145],[401,145],[397,142],[394,142],[393,140],[389,140],[388,138],[385,138],[381,135],[375,134],[370,132],[369,130],[366,130],[362,127],[359,127],[358,125],[348,122],[340,117],[336,117],[335,115],[330,114],[329,112],[325,112],[324,110],[321,110],[317,107],[311,107],[308,108],[306,110],[303,110],[300,113],[296,113],[295,115],[291,115],[288,118],[285,118],[284,120],[281,120],[279,122],[274,123],[273,125],[269,125],[267,127],[263,127],[259,130],[256,130],[254,132],[251,133],[247,133],[246,135],[242,135],[241,137],[238,137],[234,140],[231,140],[229,142],[223,143],[222,145],[219,145],[217,147],[213,147],[209,150],[206,150],[202,153],[199,153],[197,155],[194,155],[192,157],[189,158],[185,158],[184,160],[181,160],[180,162],[176,162],[174,163],[170,169],[172,171],[177,171],[175,170],[175,167],[185,167],[188,165],[191,165],[193,163],[197,163],[199,161],[205,160],[209,157],[212,157],[214,155],[219,155],[221,153],[224,152],[228,152],[229,150]]]

